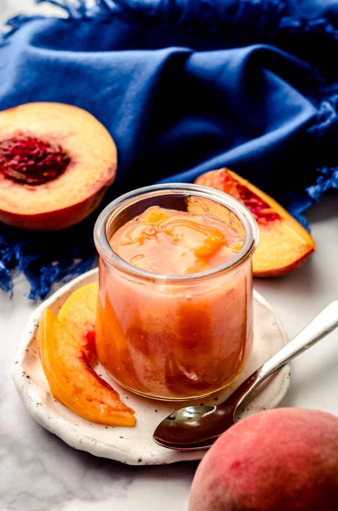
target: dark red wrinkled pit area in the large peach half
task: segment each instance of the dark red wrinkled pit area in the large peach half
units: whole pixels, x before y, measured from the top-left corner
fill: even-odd
[[[0,142],[0,172],[18,183],[37,185],[56,179],[69,161],[61,146],[36,137],[14,137]]]

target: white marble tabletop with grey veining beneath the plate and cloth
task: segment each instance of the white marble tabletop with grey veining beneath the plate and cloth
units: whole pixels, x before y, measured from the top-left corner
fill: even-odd
[[[28,0],[0,0],[0,20],[34,9]],[[313,206],[307,218],[318,243],[316,253],[291,275],[255,281],[289,337],[338,298],[338,192]],[[186,511],[198,462],[132,467],[96,458],[68,447],[29,415],[11,379],[21,330],[36,307],[27,292],[21,275],[15,278],[12,300],[0,291],[1,511]],[[281,406],[338,415],[337,366],[338,331],[294,360],[291,387]]]

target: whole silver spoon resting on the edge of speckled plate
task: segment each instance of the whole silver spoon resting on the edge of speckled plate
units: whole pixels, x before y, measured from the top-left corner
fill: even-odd
[[[223,403],[180,408],[156,428],[155,442],[169,449],[196,451],[207,449],[234,424],[238,406],[265,378],[303,353],[338,327],[338,300],[328,305],[296,337],[261,365]]]

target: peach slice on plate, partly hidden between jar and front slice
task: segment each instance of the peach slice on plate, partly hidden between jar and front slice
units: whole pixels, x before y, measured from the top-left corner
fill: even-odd
[[[96,356],[95,315],[97,301],[98,284],[92,282],[71,293],[58,314],[58,319],[81,345],[89,363]]]

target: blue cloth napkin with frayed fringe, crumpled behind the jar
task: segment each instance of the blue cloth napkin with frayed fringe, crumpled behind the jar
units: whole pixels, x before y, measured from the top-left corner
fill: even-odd
[[[118,149],[105,202],[227,166],[304,223],[338,187],[338,0],[50,3],[67,17],[17,16],[0,40],[0,109],[59,101],[95,115]],[[53,236],[0,225],[0,285],[18,267],[43,297],[90,267],[97,215]]]

